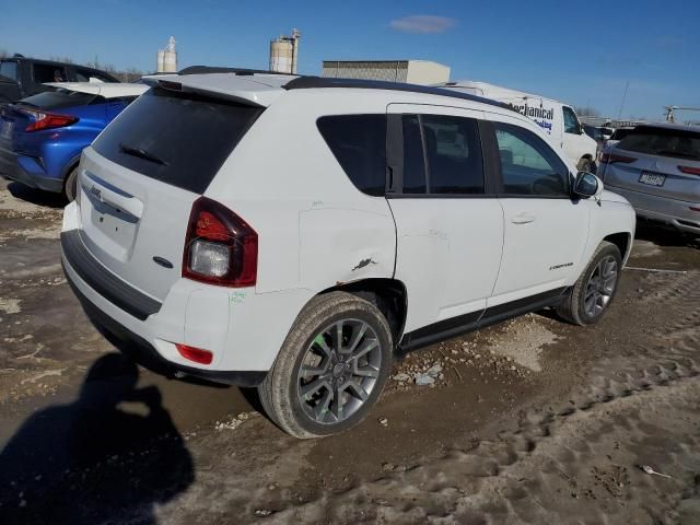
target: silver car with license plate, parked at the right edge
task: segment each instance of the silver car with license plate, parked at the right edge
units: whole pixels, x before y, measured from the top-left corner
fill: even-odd
[[[638,126],[604,151],[600,168],[638,215],[700,233],[700,127]]]

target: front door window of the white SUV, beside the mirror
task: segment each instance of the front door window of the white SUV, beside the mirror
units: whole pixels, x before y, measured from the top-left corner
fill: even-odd
[[[569,170],[544,140],[520,126],[493,125],[505,194],[569,196]]]

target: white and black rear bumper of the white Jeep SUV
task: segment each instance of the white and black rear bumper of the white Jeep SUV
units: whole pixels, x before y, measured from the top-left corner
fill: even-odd
[[[255,386],[265,378],[312,296],[308,290],[256,293],[178,278],[161,302],[93,256],[81,240],[79,211],[77,202],[63,211],[61,262],[97,326],[137,342],[142,355],[154,355],[170,372],[240,386]],[[175,343],[209,350],[213,360],[209,365],[189,361]]]

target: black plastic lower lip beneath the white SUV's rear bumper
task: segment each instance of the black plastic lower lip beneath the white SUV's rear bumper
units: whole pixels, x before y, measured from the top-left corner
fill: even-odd
[[[90,320],[97,327],[97,329],[101,331],[106,330],[109,335],[128,343],[126,348],[122,348],[122,346],[119,345],[117,345],[117,348],[140,365],[151,370],[152,372],[166,377],[176,377],[180,374],[185,374],[214,383],[241,387],[258,386],[267,376],[267,371],[203,370],[195,369],[192,366],[184,366],[167,361],[158,353],[153,346],[145,339],[133,334],[131,330],[126,328],[124,325],[120,325],[95,306],[85,295],[83,295],[70,279],[68,279],[68,283],[88,314],[88,317],[90,317]]]

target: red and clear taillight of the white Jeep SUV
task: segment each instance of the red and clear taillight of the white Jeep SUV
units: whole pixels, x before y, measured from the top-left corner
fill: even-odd
[[[185,238],[183,277],[232,288],[255,285],[258,234],[233,211],[200,197],[192,205]]]

